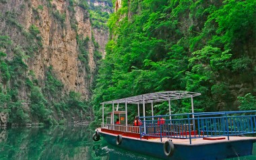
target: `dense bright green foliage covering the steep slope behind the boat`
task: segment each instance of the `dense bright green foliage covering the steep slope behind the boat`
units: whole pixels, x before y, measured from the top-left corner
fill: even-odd
[[[108,20],[110,40],[94,89],[96,119],[100,102],[154,91],[200,92],[197,111],[238,107],[229,106],[236,101],[230,87],[255,81],[251,46],[256,37],[250,36],[255,35],[255,1],[131,0],[121,5]],[[172,110],[190,112],[189,106],[174,102]],[[165,108],[156,106],[161,114]]]

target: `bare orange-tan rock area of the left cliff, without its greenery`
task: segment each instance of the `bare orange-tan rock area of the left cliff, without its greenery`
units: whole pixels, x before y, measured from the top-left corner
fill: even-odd
[[[94,44],[92,43],[92,26],[90,24],[89,13],[82,7],[75,7],[75,17],[71,17],[71,13],[67,8],[67,1],[51,1],[52,10],[47,7],[48,1],[11,1],[10,3],[2,3],[2,15],[7,12],[17,14],[15,20],[24,26],[23,30],[29,31],[30,26],[34,25],[40,30],[42,37],[42,47],[38,50],[38,54],[30,57],[26,63],[29,69],[34,71],[37,79],[44,79],[45,69],[49,66],[53,67],[57,78],[61,80],[65,91],[77,91],[88,98],[88,86],[92,79],[85,79],[85,71],[79,72],[82,69],[81,62],[78,60],[78,46],[76,36],[89,37],[89,60],[88,66],[93,72],[95,61],[92,58],[94,54]],[[24,9],[21,9],[24,6]],[[42,9],[38,9],[41,6]],[[34,15],[36,10],[38,15]],[[51,12],[57,12],[63,15],[63,24],[59,19],[53,17]],[[38,16],[38,17],[36,17]],[[86,17],[87,16],[87,17]],[[75,18],[77,21],[77,30],[71,28],[70,20]],[[13,40],[13,45],[21,45],[22,36],[16,28],[9,28],[5,22],[1,24],[1,33],[8,35]],[[6,26],[5,28],[3,26]],[[7,30],[6,30],[7,29]],[[16,31],[14,31],[16,30]],[[13,34],[13,32],[16,32]],[[18,33],[17,33],[18,32]],[[17,41],[17,42],[15,42]]]

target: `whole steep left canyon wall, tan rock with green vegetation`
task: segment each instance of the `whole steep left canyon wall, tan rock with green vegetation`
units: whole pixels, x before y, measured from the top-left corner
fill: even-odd
[[[9,107],[14,102],[26,123],[90,119],[86,102],[108,36],[92,22],[86,1],[0,1],[0,51],[6,54],[1,61],[8,66],[1,73],[10,75],[1,76],[1,93],[10,96],[1,107],[11,123],[17,122],[13,112],[18,109]],[[15,57],[22,65],[15,66]]]

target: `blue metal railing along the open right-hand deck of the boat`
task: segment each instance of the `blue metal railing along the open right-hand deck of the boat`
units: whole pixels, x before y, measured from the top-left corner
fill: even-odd
[[[256,111],[203,112],[140,117],[140,135],[162,138],[193,138],[237,136],[256,131]],[[145,119],[144,119],[145,118]]]

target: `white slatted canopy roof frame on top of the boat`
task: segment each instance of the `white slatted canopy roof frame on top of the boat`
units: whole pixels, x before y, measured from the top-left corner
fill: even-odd
[[[125,97],[113,101],[102,102],[101,104],[149,104],[152,102],[162,102],[173,99],[191,98],[197,95],[201,95],[201,93],[195,93],[191,91],[163,91],[156,93],[147,93],[143,95],[136,95],[133,97]]]

